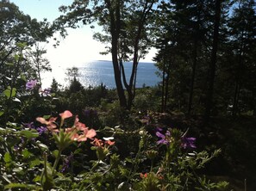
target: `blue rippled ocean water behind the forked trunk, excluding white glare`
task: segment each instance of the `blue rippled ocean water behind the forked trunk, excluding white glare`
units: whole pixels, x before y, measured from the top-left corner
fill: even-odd
[[[126,77],[129,79],[132,63],[124,63]],[[106,88],[116,88],[114,70],[111,61],[93,61],[78,67],[79,81],[84,87],[95,87],[103,83]],[[157,68],[153,63],[139,63],[137,71],[136,87],[141,88],[143,85],[154,86],[159,83],[160,79],[156,75]]]

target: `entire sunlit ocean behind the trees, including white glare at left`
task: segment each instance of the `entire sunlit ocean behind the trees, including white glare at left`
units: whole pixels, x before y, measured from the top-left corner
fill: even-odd
[[[97,60],[84,63],[83,65],[74,65],[78,68],[78,80],[83,84],[85,88],[89,86],[95,87],[103,83],[107,89],[115,89],[115,77],[113,71],[113,65],[111,61]],[[72,66],[71,66],[72,67]],[[68,82],[66,80],[67,66],[53,67],[52,72],[46,72],[42,74],[42,86],[49,87],[53,81],[53,77],[56,81],[66,86]],[[124,63],[127,79],[130,77],[132,70],[132,63]],[[160,78],[156,75],[158,69],[153,63],[141,62],[138,65],[136,87],[141,88],[145,86],[155,86],[160,82]]]

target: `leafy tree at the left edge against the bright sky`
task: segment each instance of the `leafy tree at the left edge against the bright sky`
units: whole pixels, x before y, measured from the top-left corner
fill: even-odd
[[[16,76],[28,73],[28,60],[21,54],[21,47],[25,44],[27,47],[33,46],[38,41],[47,41],[47,37],[53,34],[53,28],[46,20],[38,22],[31,19],[7,0],[0,2],[0,23],[0,88],[4,89],[9,85],[9,77],[13,76],[13,72]]]

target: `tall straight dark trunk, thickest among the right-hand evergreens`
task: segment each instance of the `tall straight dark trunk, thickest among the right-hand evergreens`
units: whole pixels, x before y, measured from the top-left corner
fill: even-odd
[[[212,51],[211,51],[211,59],[209,63],[208,89],[206,92],[206,104],[205,104],[205,113],[204,113],[205,122],[209,121],[209,116],[211,113],[211,109],[213,107],[215,66],[217,61],[219,27],[220,27],[220,20],[221,20],[221,4],[222,4],[221,1],[222,0],[215,0],[215,24],[214,24],[214,36],[213,36],[213,45],[212,45]]]

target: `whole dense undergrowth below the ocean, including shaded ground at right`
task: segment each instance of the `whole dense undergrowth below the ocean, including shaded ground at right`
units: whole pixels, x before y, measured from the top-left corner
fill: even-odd
[[[252,116],[205,125],[200,116],[159,113],[157,87],[138,89],[127,111],[103,85],[41,90],[30,83],[1,95],[1,190],[255,187]]]

